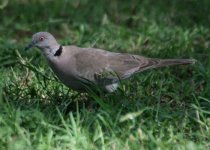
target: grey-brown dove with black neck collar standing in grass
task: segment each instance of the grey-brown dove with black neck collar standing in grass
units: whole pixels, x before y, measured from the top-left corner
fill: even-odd
[[[120,80],[138,72],[162,66],[195,63],[195,59],[156,59],[96,48],[62,46],[48,32],[35,33],[26,49],[33,46],[43,52],[57,77],[66,86],[77,91],[86,91],[86,83],[91,82],[113,92]]]

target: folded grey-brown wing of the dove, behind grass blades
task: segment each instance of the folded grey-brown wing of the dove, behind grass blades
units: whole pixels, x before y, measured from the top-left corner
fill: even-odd
[[[101,49],[83,49],[75,54],[76,70],[80,78],[102,83],[125,79],[145,65],[146,58],[136,55],[113,53]]]

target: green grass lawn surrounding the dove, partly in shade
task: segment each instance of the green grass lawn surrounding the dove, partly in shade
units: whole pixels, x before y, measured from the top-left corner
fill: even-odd
[[[7,3],[8,2],[8,3]],[[210,149],[209,0],[0,1],[0,149]],[[61,84],[33,33],[190,66],[145,71],[115,93]]]

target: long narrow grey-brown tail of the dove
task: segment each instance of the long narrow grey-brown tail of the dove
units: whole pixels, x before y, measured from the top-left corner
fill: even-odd
[[[145,66],[141,66],[139,71],[152,69],[152,68],[160,68],[165,66],[172,66],[172,65],[188,65],[188,64],[195,64],[195,59],[155,59],[155,58],[148,58],[148,64]]]

